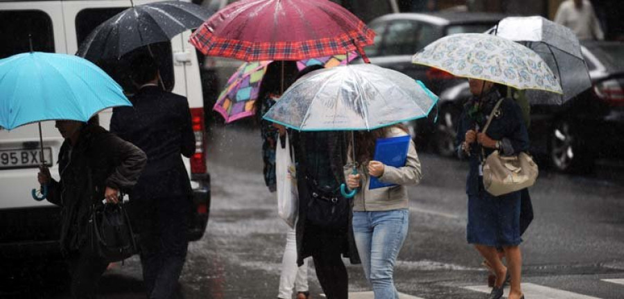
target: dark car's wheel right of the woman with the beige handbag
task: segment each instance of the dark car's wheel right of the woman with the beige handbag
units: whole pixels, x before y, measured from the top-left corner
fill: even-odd
[[[590,172],[593,156],[585,150],[578,134],[565,120],[559,121],[551,132],[550,156],[555,170],[560,172]]]

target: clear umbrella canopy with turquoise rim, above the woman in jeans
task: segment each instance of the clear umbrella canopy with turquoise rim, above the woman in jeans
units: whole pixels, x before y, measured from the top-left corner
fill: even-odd
[[[356,64],[304,75],[263,118],[300,131],[371,130],[425,117],[436,102],[403,73]]]

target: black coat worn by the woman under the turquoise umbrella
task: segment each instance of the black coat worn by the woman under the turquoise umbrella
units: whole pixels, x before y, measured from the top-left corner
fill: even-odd
[[[146,156],[102,127],[85,125],[76,145],[64,141],[58,161],[60,181],[51,181],[47,199],[62,207],[62,249],[76,251],[89,236],[93,204],[101,204],[106,187],[128,192],[137,183]]]

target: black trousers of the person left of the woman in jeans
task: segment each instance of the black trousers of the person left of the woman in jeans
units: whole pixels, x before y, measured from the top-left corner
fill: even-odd
[[[327,230],[306,224],[306,239],[310,240],[316,277],[325,296],[328,299],[347,299],[349,276],[342,259],[346,231]]]

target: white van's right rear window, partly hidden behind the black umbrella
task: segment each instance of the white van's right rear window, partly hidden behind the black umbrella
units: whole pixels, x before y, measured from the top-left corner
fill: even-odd
[[[80,10],[78,15],[76,15],[76,38],[78,39],[78,44],[80,45],[98,25],[125,9],[127,8],[87,8],[85,10]],[[171,42],[151,44],[150,50],[159,64],[160,76],[165,89],[168,91],[173,90],[175,82],[173,77]],[[125,92],[134,93],[136,87],[130,80],[130,61],[132,61],[132,57],[137,53],[146,51],[148,51],[146,47],[138,48],[135,51],[123,55],[119,61],[98,61],[96,64],[119,83]]]

